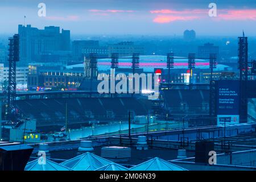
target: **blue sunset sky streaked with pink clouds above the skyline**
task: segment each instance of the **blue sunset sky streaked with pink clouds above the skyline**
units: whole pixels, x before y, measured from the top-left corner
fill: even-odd
[[[38,4],[46,4],[46,17],[38,16]],[[209,3],[217,16],[209,17]],[[72,34],[256,35],[256,1],[185,0],[1,0],[0,33],[15,33],[18,24],[32,27],[60,26]]]

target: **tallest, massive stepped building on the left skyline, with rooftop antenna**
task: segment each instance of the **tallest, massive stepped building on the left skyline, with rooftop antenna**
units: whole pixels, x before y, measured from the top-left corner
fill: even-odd
[[[70,51],[70,31],[60,27],[44,27],[44,30],[19,24],[19,64],[40,61],[44,52]]]

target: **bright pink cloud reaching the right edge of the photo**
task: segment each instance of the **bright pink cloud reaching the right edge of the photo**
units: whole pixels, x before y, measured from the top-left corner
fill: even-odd
[[[217,14],[219,19],[224,20],[256,20],[256,9],[245,10],[222,10],[221,14]],[[226,12],[226,13],[225,13]]]

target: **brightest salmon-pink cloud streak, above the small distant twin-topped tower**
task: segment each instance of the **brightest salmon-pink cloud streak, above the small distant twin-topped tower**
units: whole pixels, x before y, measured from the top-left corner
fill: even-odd
[[[173,15],[158,15],[153,19],[155,23],[170,23],[177,20],[193,20],[198,19],[199,16],[173,16]]]

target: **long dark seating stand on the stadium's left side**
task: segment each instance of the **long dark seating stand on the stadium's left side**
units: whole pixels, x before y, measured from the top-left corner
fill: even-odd
[[[103,122],[127,120],[129,110],[134,115],[147,114],[151,102],[133,97],[85,97],[18,100],[16,104],[24,117],[36,119],[37,126],[63,126],[66,104],[68,122],[75,124],[93,119]]]

